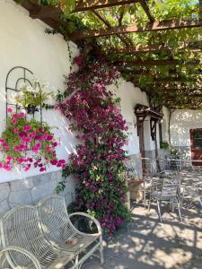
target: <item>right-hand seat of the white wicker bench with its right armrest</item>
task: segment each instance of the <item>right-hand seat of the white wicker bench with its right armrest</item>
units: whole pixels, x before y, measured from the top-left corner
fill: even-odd
[[[75,264],[79,267],[96,250],[100,250],[101,265],[103,264],[101,225],[95,218],[86,213],[68,215],[65,199],[59,195],[48,196],[37,206],[43,232],[53,247],[67,253],[79,251],[75,258]],[[83,216],[94,222],[98,231],[94,234],[86,234],[77,230],[70,221],[70,218],[75,215]],[[68,243],[66,244],[66,242]],[[90,245],[92,247],[80,258],[86,247]]]

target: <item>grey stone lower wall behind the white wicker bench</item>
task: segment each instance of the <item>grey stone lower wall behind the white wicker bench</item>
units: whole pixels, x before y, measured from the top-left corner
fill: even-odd
[[[36,204],[41,198],[56,194],[56,187],[61,181],[61,171],[41,174],[31,178],[0,184],[0,216],[19,204]],[[66,204],[75,199],[75,180],[68,178],[63,193]]]

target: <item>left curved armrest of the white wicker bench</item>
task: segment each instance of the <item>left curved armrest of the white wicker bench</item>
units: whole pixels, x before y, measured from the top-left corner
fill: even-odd
[[[9,247],[0,247],[0,259],[1,259],[1,256],[3,254],[6,254],[6,252],[18,252],[26,257],[28,257],[31,262],[33,263],[33,265],[35,266],[35,269],[41,269],[41,266],[40,266],[40,262],[38,261],[38,259],[33,256],[31,254],[31,252],[29,252],[28,250],[26,249],[23,249],[21,247],[12,247],[12,246],[9,246]]]

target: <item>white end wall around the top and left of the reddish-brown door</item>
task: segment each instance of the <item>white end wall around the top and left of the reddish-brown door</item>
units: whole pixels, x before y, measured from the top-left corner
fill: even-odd
[[[202,111],[175,110],[171,115],[171,145],[190,146],[190,129],[202,128]]]

